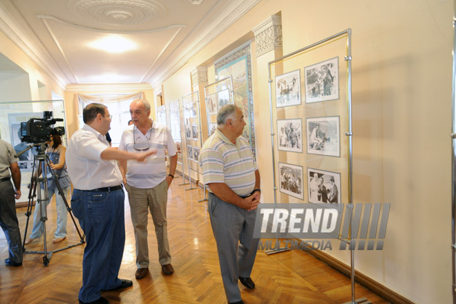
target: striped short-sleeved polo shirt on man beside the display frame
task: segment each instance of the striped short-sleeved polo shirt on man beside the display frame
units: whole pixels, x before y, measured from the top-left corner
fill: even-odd
[[[258,165],[249,142],[242,136],[233,144],[217,129],[202,146],[200,167],[205,184],[225,183],[238,196],[254,190]]]

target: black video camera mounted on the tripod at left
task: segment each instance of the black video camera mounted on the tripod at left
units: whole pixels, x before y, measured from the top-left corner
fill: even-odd
[[[52,126],[56,122],[63,122],[61,118],[53,118],[52,111],[44,111],[43,118],[30,118],[28,122],[21,122],[21,142],[49,142],[50,135],[64,135],[63,126]]]

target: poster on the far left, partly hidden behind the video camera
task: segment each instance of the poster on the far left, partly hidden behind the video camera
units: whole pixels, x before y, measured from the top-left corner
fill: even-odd
[[[27,122],[30,118],[43,118],[43,112],[37,113],[10,113],[8,114],[8,124],[10,126],[10,139],[11,144],[15,148],[16,153],[28,148],[26,142],[21,142],[21,122]],[[37,155],[38,152],[35,148],[32,148],[22,155],[19,156],[19,168],[21,171],[32,171],[33,167],[33,155]]]

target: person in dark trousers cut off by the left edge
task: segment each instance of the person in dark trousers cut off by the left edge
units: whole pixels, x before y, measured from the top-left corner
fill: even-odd
[[[17,164],[19,158],[14,155],[12,144],[0,140],[0,226],[10,247],[5,263],[7,266],[19,267],[22,266],[22,244],[15,198],[21,197],[21,171]],[[16,189],[12,187],[10,176]]]

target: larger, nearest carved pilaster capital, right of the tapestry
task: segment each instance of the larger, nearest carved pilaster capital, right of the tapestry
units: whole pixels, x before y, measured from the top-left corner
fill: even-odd
[[[281,16],[272,15],[251,31],[255,35],[256,57],[283,47]]]

